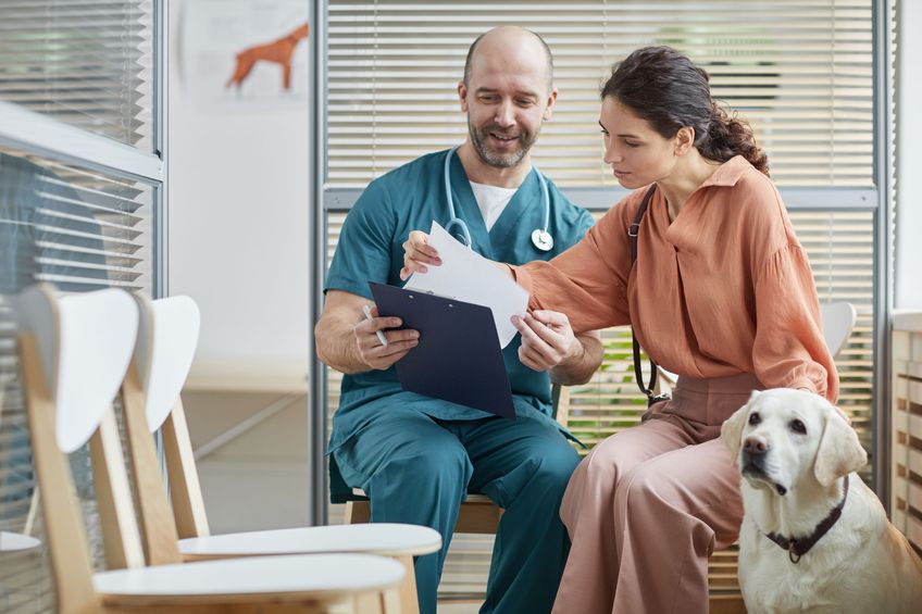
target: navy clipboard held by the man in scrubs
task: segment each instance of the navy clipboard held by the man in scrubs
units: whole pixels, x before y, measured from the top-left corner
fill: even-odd
[[[403,390],[515,418],[502,348],[489,308],[369,281],[377,312],[420,331],[397,361]]]

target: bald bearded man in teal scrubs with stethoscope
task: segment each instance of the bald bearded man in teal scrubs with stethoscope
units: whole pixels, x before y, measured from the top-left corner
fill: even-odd
[[[372,522],[441,534],[441,551],[415,563],[424,614],[435,614],[468,492],[482,492],[504,510],[481,612],[550,612],[570,549],[558,508],[578,463],[570,435],[552,417],[550,384],[587,381],[601,362],[601,343],[597,334],[574,336],[563,314],[529,314],[525,331],[503,351],[516,419],[498,417],[401,390],[394,365],[413,351],[419,335],[401,328],[399,318],[377,317],[369,281],[401,285],[409,233],[434,220],[448,224],[446,162],[456,215],[468,231],[453,229],[482,255],[549,260],[580,240],[591,217],[547,179],[545,197],[531,161],[557,100],[552,71],[550,50],[534,33],[501,27],[477,38],[458,84],[466,139],[372,181],[346,218],[326,279],[316,351],[346,374],[333,417],[331,483],[362,488]],[[371,319],[363,316],[365,305]]]

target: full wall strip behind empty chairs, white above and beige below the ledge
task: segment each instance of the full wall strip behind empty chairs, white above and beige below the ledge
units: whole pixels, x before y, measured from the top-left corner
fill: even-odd
[[[303,24],[306,0],[173,0],[170,7],[169,280],[201,308],[184,401],[212,530],[308,521],[311,136],[308,49],[292,91],[257,64],[225,90],[234,51]],[[281,23],[284,22],[284,23]],[[296,394],[290,394],[295,392]],[[253,422],[279,399],[283,411]]]

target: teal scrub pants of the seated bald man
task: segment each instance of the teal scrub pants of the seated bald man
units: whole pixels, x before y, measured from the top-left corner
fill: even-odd
[[[559,508],[580,462],[547,419],[440,421],[388,408],[334,451],[342,477],[371,499],[373,523],[432,527],[439,552],[415,562],[421,614],[435,614],[445,555],[466,492],[503,508],[482,613],[550,612],[570,550]]]

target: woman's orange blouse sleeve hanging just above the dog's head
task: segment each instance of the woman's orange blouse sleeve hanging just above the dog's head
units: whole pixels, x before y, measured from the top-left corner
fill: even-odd
[[[788,242],[765,260],[755,281],[756,376],[769,388],[806,388],[835,402],[838,374],[803,249]]]

